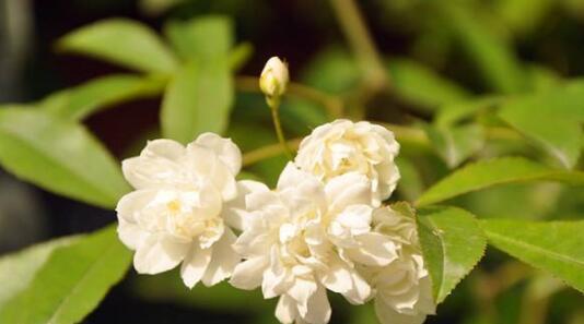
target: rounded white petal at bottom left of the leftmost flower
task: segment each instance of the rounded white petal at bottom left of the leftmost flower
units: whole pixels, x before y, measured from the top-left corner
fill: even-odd
[[[188,252],[189,244],[165,235],[150,235],[138,247],[133,266],[140,274],[160,274],[177,266]]]

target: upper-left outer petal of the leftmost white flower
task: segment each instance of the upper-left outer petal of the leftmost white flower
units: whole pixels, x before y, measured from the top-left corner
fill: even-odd
[[[136,189],[164,183],[175,183],[183,179],[182,160],[185,147],[171,140],[150,141],[138,157],[121,163],[124,177]]]

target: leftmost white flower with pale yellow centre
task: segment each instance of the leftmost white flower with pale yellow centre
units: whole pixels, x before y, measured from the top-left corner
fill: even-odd
[[[199,280],[212,286],[231,275],[241,259],[224,217],[231,212],[226,202],[237,195],[241,159],[231,140],[205,133],[186,147],[151,141],[140,156],[124,160],[124,176],[136,191],[117,205],[118,233],[136,250],[138,273],[157,274],[182,263],[188,287]]]

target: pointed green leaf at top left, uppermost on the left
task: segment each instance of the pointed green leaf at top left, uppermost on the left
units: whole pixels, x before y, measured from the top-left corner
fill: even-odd
[[[81,27],[59,39],[57,48],[144,72],[171,73],[177,68],[176,58],[153,31],[125,19]]]

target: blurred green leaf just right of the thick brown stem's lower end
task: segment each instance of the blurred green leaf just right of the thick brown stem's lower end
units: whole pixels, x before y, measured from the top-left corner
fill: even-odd
[[[413,60],[392,58],[388,67],[396,92],[427,109],[433,110],[470,96],[459,85]]]

